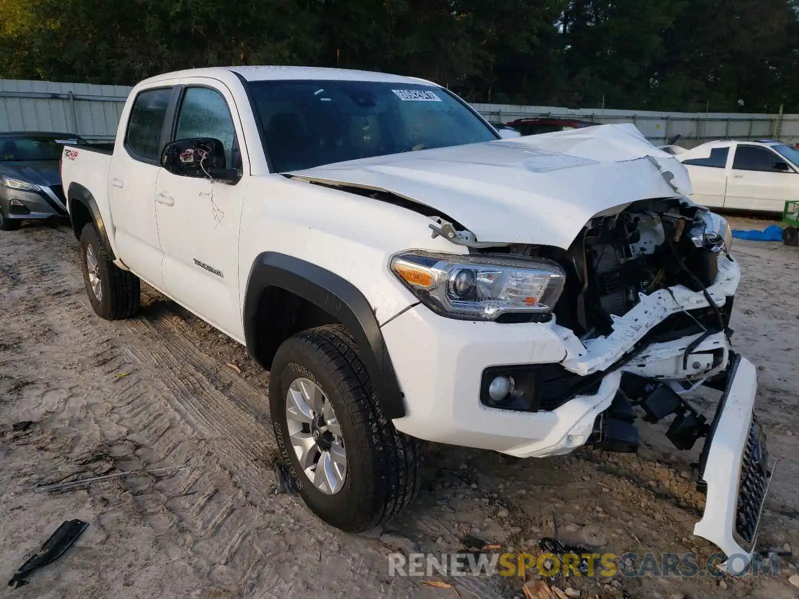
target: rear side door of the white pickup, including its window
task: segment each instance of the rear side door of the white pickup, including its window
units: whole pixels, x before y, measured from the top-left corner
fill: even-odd
[[[155,182],[174,92],[161,85],[137,93],[125,134],[117,137],[109,169],[109,203],[119,256],[137,276],[163,289],[161,243],[155,214]]]

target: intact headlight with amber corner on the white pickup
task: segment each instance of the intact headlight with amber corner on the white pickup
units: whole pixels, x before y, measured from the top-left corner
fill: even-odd
[[[431,310],[450,318],[495,320],[503,314],[547,314],[566,274],[551,260],[401,252],[390,267]]]

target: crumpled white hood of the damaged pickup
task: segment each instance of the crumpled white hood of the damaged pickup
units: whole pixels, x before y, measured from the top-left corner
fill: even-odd
[[[284,174],[392,192],[463,224],[479,242],[564,249],[600,212],[691,193],[686,167],[630,124],[390,154]]]

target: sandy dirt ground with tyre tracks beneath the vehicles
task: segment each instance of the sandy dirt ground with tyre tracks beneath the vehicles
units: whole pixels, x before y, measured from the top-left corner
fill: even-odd
[[[758,228],[764,220],[735,220]],[[574,578],[582,597],[797,597],[799,248],[733,244],[744,278],[733,342],[758,367],[757,412],[779,458],[759,545],[789,553],[777,577]],[[521,597],[518,577],[389,577],[388,553],[455,552],[475,534],[539,553],[551,536],[621,555],[716,549],[691,534],[703,506],[696,452],[641,424],[639,454],[580,450],[518,460],[431,446],[419,500],[370,534],[332,529],[276,494],[268,373],[244,347],[156,292],[140,315],[97,318],[67,227],[0,234],[0,574],[10,579],[61,522],[89,528],[20,597]],[[235,368],[231,367],[233,365]],[[240,372],[239,372],[240,371]],[[697,399],[712,415],[714,392]],[[14,422],[33,421],[14,431]],[[79,490],[42,484],[187,464]],[[787,547],[785,545],[788,545]],[[535,576],[535,574],[533,574]],[[440,577],[438,577],[440,578]]]

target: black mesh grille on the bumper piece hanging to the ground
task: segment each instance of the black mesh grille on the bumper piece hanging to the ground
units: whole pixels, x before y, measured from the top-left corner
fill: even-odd
[[[741,459],[741,478],[738,482],[738,505],[735,531],[749,544],[757,534],[757,522],[765,492],[769,486],[769,454],[765,449],[765,434],[752,415],[746,446]]]

